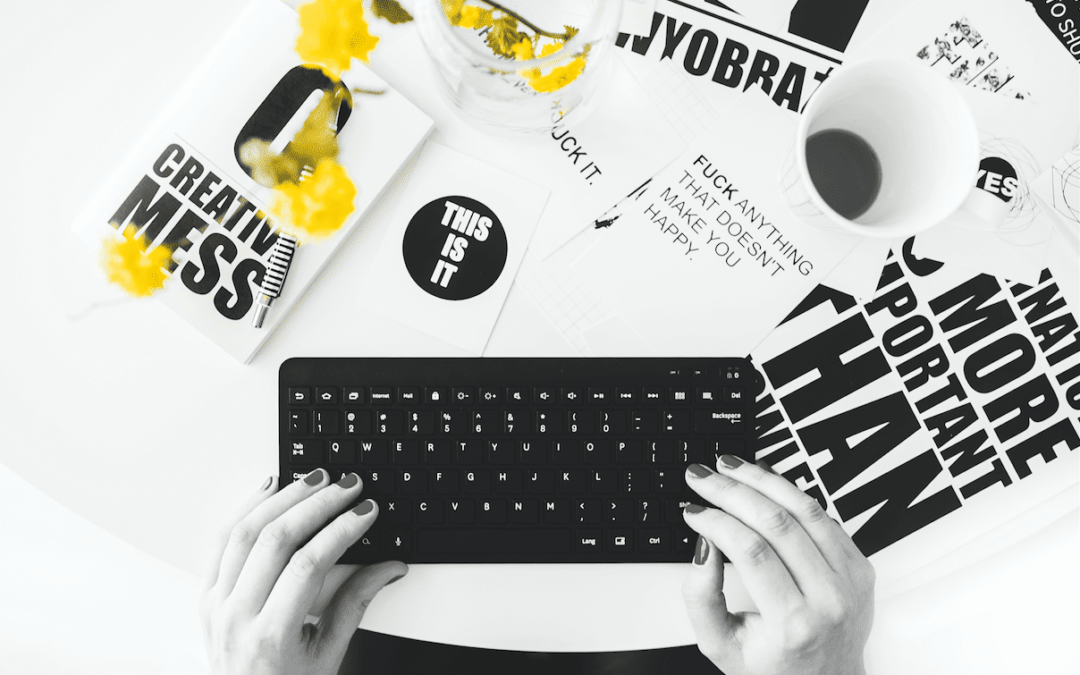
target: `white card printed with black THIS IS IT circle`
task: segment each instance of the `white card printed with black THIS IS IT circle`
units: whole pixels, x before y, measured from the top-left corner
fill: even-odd
[[[546,200],[544,188],[429,141],[360,305],[482,354]]]

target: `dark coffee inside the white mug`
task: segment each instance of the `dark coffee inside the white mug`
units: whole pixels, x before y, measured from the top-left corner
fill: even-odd
[[[818,194],[849,220],[866,213],[881,190],[881,162],[862,136],[826,129],[807,138],[807,173]]]

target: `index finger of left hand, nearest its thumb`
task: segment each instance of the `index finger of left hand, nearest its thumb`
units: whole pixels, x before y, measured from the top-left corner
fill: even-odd
[[[334,489],[334,488],[330,488]],[[288,635],[299,630],[330,571],[346,549],[356,543],[378,517],[378,507],[366,499],[346,511],[293,554],[266,598],[262,613]]]

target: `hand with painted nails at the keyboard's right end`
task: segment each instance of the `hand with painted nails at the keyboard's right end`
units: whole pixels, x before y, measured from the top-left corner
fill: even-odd
[[[863,675],[874,567],[812,497],[725,455],[687,483],[719,509],[687,507],[697,553],[683,598],[698,646],[727,675]],[[758,612],[728,611],[730,558]]]

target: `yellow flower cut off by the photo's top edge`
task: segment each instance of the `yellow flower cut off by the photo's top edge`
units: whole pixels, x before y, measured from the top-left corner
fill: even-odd
[[[378,43],[364,19],[362,0],[314,0],[300,8],[296,53],[334,75],[348,70],[354,56],[366,63]]]

